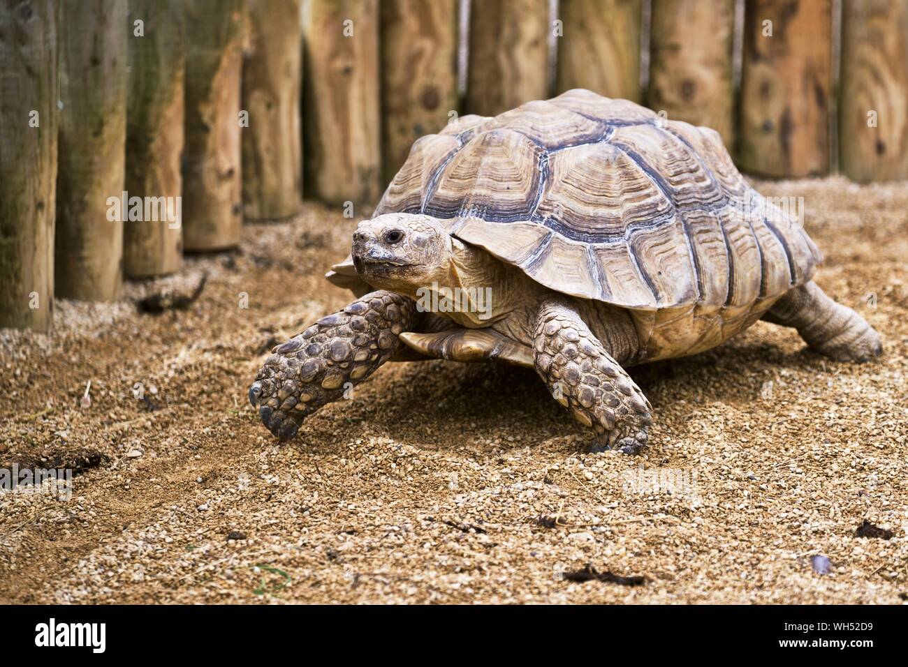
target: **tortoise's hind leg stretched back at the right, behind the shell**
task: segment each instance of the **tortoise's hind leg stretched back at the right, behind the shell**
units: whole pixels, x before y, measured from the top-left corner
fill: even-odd
[[[880,335],[854,310],[827,297],[816,283],[792,289],[763,319],[794,327],[817,352],[839,361],[869,361],[883,354]]]

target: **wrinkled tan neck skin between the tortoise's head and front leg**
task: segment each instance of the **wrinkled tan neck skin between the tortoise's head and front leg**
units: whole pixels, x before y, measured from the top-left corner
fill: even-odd
[[[543,291],[522,271],[451,238],[449,261],[433,274],[430,284],[419,286],[409,296],[416,299],[420,310],[431,310],[460,326],[492,327],[524,341],[530,311],[535,312]]]

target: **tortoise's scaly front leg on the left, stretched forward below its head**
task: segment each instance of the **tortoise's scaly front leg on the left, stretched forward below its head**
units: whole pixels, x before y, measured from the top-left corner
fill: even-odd
[[[318,320],[274,350],[249,388],[262,422],[281,441],[302,420],[344,395],[404,347],[398,336],[419,319],[416,302],[371,292]]]

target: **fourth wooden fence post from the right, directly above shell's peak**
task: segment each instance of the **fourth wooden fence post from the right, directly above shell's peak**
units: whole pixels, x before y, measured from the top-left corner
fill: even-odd
[[[561,0],[558,92],[640,102],[640,15],[640,0]]]

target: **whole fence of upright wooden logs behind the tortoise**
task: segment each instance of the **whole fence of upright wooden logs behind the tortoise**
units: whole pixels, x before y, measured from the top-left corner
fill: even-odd
[[[303,191],[368,215],[423,134],[573,87],[714,127],[744,172],[908,179],[908,3],[843,0],[837,94],[833,0],[747,0],[737,84],[740,3],[652,0],[646,90],[641,5],[473,0],[459,25],[459,0],[0,3],[0,326],[232,248]],[[128,201],[111,220],[123,192],[182,197],[182,229]]]

